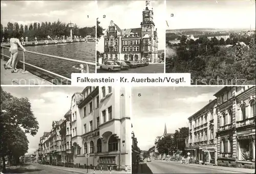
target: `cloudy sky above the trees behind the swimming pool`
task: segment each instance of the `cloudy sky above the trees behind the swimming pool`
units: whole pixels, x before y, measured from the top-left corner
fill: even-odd
[[[61,22],[79,28],[96,26],[95,1],[1,1],[1,23]]]

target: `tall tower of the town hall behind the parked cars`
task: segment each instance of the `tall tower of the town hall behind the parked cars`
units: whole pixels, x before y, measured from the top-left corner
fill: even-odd
[[[153,7],[151,1],[146,0],[146,7],[142,12],[141,36],[142,36],[142,57],[152,61],[152,52],[154,52],[154,27],[153,21]]]

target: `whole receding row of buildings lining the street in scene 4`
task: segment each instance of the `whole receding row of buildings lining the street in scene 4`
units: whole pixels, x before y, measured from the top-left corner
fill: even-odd
[[[62,119],[40,138],[41,163],[131,168],[131,88],[86,87],[72,96]],[[89,155],[87,158],[86,154]]]

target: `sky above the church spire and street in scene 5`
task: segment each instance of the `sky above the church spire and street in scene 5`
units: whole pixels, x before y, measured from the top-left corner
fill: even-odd
[[[157,136],[188,127],[187,118],[215,99],[222,87],[133,87],[132,124],[138,147],[147,151]],[[141,96],[138,96],[140,93]]]

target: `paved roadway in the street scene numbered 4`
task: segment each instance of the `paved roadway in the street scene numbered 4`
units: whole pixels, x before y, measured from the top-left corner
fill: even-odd
[[[52,174],[70,174],[70,173],[87,173],[87,169],[80,169],[80,168],[69,168],[69,167],[59,167],[59,166],[52,166],[52,165],[42,165],[42,164],[26,164],[21,168],[13,168],[7,170],[6,173],[23,173],[23,174],[45,174],[45,173],[52,173]],[[105,171],[96,170],[95,172],[92,169],[88,170],[88,173],[131,173],[131,171]]]

